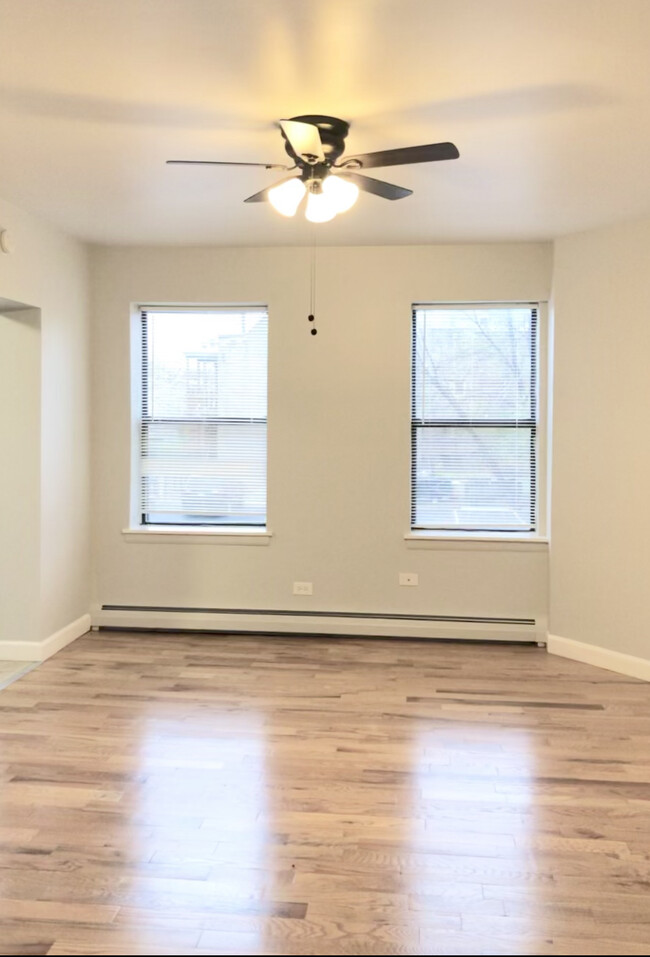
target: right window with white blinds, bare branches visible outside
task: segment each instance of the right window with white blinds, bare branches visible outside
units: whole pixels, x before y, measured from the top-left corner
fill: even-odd
[[[536,531],[538,312],[414,307],[414,530]]]

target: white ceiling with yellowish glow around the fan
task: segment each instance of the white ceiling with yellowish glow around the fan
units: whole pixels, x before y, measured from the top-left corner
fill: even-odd
[[[461,157],[316,227],[243,204],[277,170],[165,165],[282,163],[302,113]],[[650,213],[649,172],[650,0],[0,0],[0,195],[85,240],[547,239]]]

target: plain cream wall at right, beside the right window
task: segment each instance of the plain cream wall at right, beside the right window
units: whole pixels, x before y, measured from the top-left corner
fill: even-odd
[[[650,658],[650,221],[555,246],[550,630]]]

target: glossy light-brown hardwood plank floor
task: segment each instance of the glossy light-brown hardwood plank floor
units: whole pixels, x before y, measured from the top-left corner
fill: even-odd
[[[100,633],[0,693],[0,953],[648,954],[650,685]]]

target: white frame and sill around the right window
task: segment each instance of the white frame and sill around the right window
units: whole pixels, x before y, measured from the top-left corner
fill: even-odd
[[[461,531],[457,529],[419,529],[412,525],[412,376],[413,376],[413,345],[414,345],[414,316],[416,309],[447,308],[447,309],[480,309],[481,307],[516,308],[517,306],[534,306],[537,308],[537,443],[536,443],[536,523],[534,531],[521,532],[488,532],[488,531]],[[408,484],[408,531],[404,534],[406,545],[409,548],[490,548],[500,544],[505,548],[537,548],[546,549],[548,544],[548,494],[550,482],[548,476],[548,429],[549,429],[549,318],[548,303],[542,300],[506,300],[493,301],[435,301],[416,302],[411,305],[411,324],[409,327],[409,484]]]

